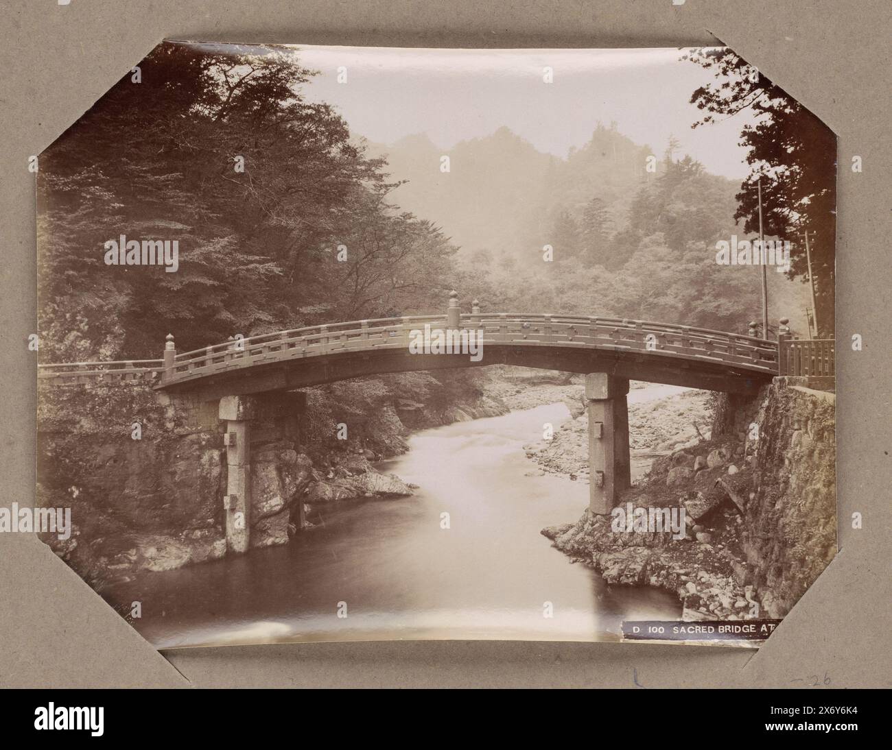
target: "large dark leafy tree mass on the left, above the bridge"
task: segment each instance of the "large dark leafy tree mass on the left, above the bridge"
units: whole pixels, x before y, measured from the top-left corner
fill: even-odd
[[[47,359],[157,356],[169,331],[182,350],[375,316],[450,283],[448,238],[387,202],[399,183],[307,101],[314,73],[293,50],[164,43],[140,69],[142,83],[122,78],[41,155]],[[120,234],[178,240],[177,273],[104,265]]]

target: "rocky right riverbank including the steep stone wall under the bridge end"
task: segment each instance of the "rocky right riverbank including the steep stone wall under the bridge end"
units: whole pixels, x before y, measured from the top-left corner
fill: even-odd
[[[706,420],[693,403],[687,394],[673,396],[651,404],[651,413]],[[785,379],[755,399],[723,397],[710,439],[657,458],[621,501],[644,513],[684,509],[681,539],[646,526],[615,530],[611,517],[588,510],[542,534],[609,583],[674,591],[684,620],[782,617],[836,552],[834,405],[832,394]],[[631,423],[642,416],[632,413]],[[530,457],[582,472],[585,434],[576,421]]]

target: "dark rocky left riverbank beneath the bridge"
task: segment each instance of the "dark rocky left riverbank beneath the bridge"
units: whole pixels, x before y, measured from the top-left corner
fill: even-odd
[[[332,503],[410,495],[373,462],[422,428],[507,413],[483,373],[410,372],[258,397],[251,428],[251,548],[312,529]],[[135,432],[138,424],[138,434]],[[95,589],[227,554],[226,455],[216,404],[140,383],[45,388],[37,505],[71,508],[45,542]]]

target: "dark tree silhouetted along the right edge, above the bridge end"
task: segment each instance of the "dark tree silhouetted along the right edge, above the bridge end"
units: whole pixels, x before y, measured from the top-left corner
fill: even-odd
[[[703,49],[682,56],[714,71],[722,83],[700,86],[690,102],[706,113],[692,127],[743,110],[756,114],[755,125],[743,126],[750,174],[737,194],[736,219],[746,232],[758,231],[756,183],[762,176],[764,234],[791,243],[791,278],[807,279],[807,230],[820,336],[834,331],[836,287],[836,136],[820,119],[779,86],[727,48]]]

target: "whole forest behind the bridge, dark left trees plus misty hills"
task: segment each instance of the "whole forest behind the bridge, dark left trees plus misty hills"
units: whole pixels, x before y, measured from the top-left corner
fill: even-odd
[[[41,155],[43,361],[158,357],[169,331],[183,351],[442,312],[453,288],[466,309],[740,332],[758,318],[758,270],[714,263],[716,240],[752,237],[739,185],[673,143],[648,171],[650,147],[615,124],[566,159],[503,127],[458,143],[444,174],[423,135],[351,133],[306,97],[313,76],[291,49],[165,43]],[[178,240],[177,273],[104,265],[120,234]],[[769,281],[772,322],[804,333],[805,286]]]

